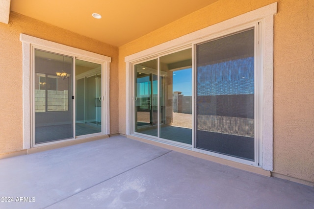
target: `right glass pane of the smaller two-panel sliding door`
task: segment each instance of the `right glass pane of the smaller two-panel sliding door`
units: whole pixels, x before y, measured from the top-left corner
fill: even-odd
[[[76,59],[76,136],[102,132],[102,65]]]

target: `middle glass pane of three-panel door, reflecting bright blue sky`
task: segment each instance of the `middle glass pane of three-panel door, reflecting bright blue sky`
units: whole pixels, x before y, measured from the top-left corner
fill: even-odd
[[[192,144],[192,49],[159,62],[160,138]]]

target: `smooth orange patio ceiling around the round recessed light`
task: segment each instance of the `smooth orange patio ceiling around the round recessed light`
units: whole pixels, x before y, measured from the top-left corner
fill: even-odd
[[[217,0],[11,0],[10,10],[122,46]],[[95,19],[92,13],[102,15]]]

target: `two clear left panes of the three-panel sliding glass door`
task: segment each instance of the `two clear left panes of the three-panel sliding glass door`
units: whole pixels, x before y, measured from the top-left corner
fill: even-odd
[[[134,132],[192,144],[191,52],[134,65]]]

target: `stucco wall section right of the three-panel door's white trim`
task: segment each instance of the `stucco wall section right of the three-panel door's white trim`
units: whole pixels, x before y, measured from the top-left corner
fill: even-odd
[[[314,182],[314,1],[280,1],[274,33],[274,171]]]

